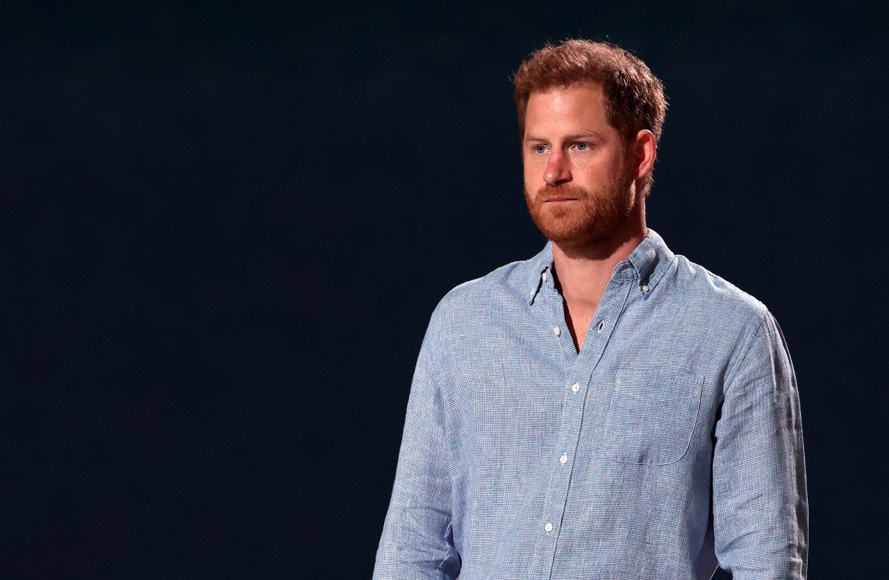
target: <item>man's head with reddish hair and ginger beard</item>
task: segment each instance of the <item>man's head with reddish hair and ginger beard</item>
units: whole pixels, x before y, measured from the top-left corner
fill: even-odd
[[[567,40],[533,52],[515,83],[534,222],[565,246],[607,237],[651,189],[667,107],[661,81],[621,48]]]

